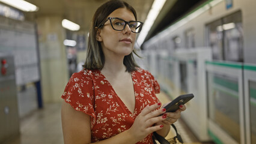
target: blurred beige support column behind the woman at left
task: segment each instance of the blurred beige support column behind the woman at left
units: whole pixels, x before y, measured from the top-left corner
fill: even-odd
[[[46,103],[62,101],[61,94],[69,80],[66,47],[63,44],[66,32],[61,21],[61,16],[37,18],[41,86]]]

